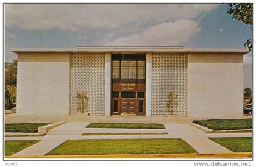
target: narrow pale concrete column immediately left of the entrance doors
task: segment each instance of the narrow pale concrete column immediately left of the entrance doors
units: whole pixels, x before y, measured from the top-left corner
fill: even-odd
[[[105,116],[111,114],[111,54],[105,54]]]

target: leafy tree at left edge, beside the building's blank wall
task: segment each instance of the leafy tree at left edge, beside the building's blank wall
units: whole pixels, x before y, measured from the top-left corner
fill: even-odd
[[[10,109],[16,105],[17,94],[17,60],[12,62],[5,62],[5,76],[4,76],[4,105],[5,109]]]

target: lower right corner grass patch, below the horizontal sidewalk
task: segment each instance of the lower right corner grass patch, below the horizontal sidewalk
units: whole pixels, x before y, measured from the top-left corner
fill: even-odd
[[[252,152],[251,137],[210,138],[233,152]]]

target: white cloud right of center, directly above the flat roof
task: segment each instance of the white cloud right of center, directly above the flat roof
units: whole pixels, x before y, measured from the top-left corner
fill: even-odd
[[[200,31],[199,23],[191,20],[178,20],[162,23],[144,29],[141,33],[120,37],[116,40],[102,40],[105,46],[171,46],[186,41]]]

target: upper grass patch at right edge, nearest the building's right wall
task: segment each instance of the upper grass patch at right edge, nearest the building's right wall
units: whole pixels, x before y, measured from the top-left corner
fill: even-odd
[[[252,129],[252,119],[208,119],[194,120],[193,123],[213,130]]]

